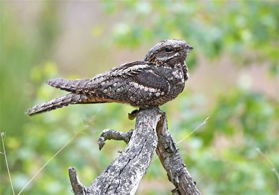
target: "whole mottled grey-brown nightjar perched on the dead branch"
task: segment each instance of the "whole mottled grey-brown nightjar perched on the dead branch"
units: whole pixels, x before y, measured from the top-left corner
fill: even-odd
[[[52,87],[70,92],[36,105],[26,114],[35,116],[72,104],[122,103],[158,107],[178,96],[189,78],[185,59],[193,47],[184,40],[166,39],[155,44],[144,59],[114,67],[88,79],[50,79]]]

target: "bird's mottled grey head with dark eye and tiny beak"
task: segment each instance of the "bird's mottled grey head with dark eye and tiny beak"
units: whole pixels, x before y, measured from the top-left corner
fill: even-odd
[[[187,57],[189,50],[193,49],[184,40],[167,39],[158,42],[146,54],[144,60],[147,63],[157,65],[168,62],[181,62]]]

